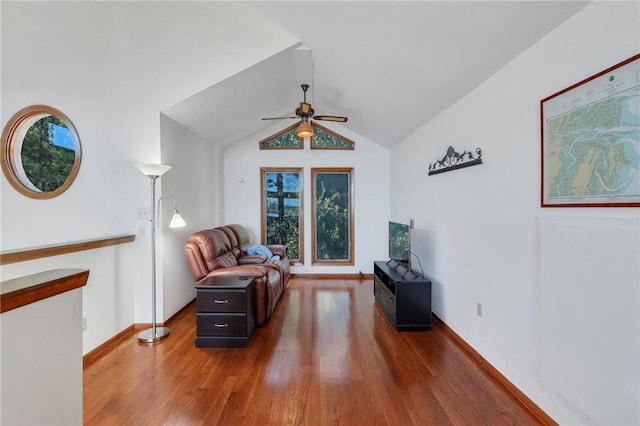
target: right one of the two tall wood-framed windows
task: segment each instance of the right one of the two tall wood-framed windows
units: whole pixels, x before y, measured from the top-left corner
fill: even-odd
[[[312,168],[313,263],[353,265],[353,169]]]

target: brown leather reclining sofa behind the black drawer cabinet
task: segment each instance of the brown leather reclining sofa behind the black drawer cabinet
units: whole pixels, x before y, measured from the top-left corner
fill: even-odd
[[[271,318],[291,275],[286,247],[269,245],[274,257],[248,255],[249,233],[242,225],[225,225],[195,232],[187,238],[184,255],[196,284],[213,275],[253,276],[256,280],[256,323]]]

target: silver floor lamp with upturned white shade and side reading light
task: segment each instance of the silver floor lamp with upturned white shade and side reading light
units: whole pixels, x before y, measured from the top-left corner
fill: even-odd
[[[156,324],[156,180],[169,171],[171,166],[162,164],[136,164],[136,167],[151,181],[151,328],[138,334],[138,341],[141,343],[153,343],[169,336],[171,330],[167,327],[158,327]],[[162,197],[160,197],[162,198]],[[173,197],[171,197],[173,198]],[[158,199],[158,210],[160,199]],[[176,200],[173,199],[173,218],[170,227],[184,226],[185,222],[176,208]]]

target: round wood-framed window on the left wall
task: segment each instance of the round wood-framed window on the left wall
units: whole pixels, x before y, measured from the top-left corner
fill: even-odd
[[[81,157],[71,120],[46,105],[21,109],[2,131],[2,171],[27,197],[62,194],[76,178]]]

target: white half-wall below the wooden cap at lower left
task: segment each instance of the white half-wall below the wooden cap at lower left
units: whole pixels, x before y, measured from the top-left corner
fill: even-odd
[[[0,316],[0,423],[82,424],[81,311],[75,289]]]

